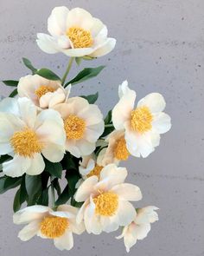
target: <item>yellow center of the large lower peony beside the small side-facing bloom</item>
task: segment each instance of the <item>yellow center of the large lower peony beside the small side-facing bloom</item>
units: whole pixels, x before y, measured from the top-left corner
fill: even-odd
[[[112,216],[118,209],[118,195],[112,192],[99,194],[93,201],[95,213],[102,216]]]

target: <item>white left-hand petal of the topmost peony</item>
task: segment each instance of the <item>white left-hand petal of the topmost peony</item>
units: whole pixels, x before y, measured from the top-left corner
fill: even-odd
[[[48,54],[54,54],[61,51],[53,36],[38,33],[36,43],[42,51]]]

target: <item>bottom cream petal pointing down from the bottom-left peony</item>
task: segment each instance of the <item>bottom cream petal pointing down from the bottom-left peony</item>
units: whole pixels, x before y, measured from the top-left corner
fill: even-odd
[[[67,231],[61,237],[54,239],[54,246],[56,246],[61,251],[72,249],[73,233],[67,229]]]

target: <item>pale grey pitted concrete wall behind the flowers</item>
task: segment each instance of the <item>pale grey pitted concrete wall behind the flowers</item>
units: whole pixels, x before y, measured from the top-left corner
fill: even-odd
[[[99,16],[118,39],[111,55],[86,66],[107,65],[98,78],[75,86],[74,93],[99,91],[104,113],[118,101],[118,84],[128,79],[138,98],[162,93],[173,128],[147,159],[126,163],[129,180],[143,191],[139,206],[160,207],[160,221],[130,255],[204,255],[204,2],[203,0],[7,0],[0,1],[0,79],[18,79],[27,73],[22,56],[35,66],[59,75],[67,57],[49,56],[35,44],[35,34],[47,31],[54,6],[80,6]],[[83,65],[82,65],[83,66]],[[77,68],[72,70],[72,75]],[[1,94],[9,89],[1,85]],[[105,99],[105,102],[103,101]],[[20,226],[12,224],[13,193],[0,197],[0,255],[67,255],[51,241],[17,239]],[[125,255],[115,235],[82,235],[69,255]]]

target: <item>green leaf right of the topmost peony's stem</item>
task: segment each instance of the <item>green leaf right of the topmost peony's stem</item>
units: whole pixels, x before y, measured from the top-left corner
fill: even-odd
[[[86,68],[80,71],[78,75],[76,75],[71,81],[67,82],[65,87],[70,83],[73,85],[75,83],[84,82],[92,77],[99,75],[100,71],[104,69],[105,66],[99,66],[98,68]]]

